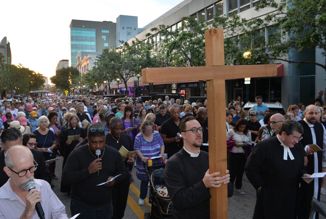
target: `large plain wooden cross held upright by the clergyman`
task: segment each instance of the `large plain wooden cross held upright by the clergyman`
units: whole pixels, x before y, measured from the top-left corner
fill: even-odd
[[[143,83],[206,80],[208,106],[209,172],[227,169],[225,80],[276,76],[276,65],[224,66],[223,29],[205,31],[206,66],[144,68]],[[211,188],[211,218],[228,218],[227,185]]]

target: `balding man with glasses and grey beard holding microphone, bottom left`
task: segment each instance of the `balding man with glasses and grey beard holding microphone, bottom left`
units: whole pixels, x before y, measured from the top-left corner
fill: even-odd
[[[0,188],[0,218],[37,219],[38,202],[44,218],[68,218],[66,208],[44,180],[34,179],[37,163],[25,146],[10,147],[5,158],[4,171],[10,177]],[[34,189],[26,189],[27,182],[34,182]]]

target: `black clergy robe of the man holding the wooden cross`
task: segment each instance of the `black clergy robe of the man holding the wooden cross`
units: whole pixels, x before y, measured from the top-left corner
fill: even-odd
[[[204,151],[198,157],[190,157],[182,148],[170,157],[164,179],[173,203],[173,218],[210,218],[211,195],[202,180],[208,168],[208,153]],[[232,193],[233,186],[229,183],[228,197]]]

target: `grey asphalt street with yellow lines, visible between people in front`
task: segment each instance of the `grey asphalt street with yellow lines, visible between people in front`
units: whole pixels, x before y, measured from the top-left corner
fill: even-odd
[[[52,180],[54,184],[53,191],[66,206],[66,212],[68,217],[71,217],[70,213],[70,198],[67,197],[67,193],[60,192],[60,183],[61,183],[61,173],[62,173],[62,162],[63,158],[56,161],[55,174],[59,177],[59,180]],[[133,168],[132,175],[134,182],[130,184],[129,187],[129,196],[127,200],[127,207],[125,211],[124,218],[126,219],[138,219],[144,218],[145,212],[150,212],[150,207],[147,206],[148,199],[145,199],[145,204],[140,206],[138,205],[138,199],[140,194],[140,180],[136,178],[136,168]],[[252,218],[255,204],[256,204],[256,190],[247,180],[246,176],[243,177],[243,187],[245,194],[240,195],[238,192],[234,191],[233,196],[228,198],[228,218],[229,219],[249,219]],[[148,192],[149,194],[149,192]],[[148,195],[147,195],[148,197]],[[326,195],[321,195],[321,204],[326,206]],[[78,217],[77,217],[78,218]],[[324,218],[319,216],[319,218]]]

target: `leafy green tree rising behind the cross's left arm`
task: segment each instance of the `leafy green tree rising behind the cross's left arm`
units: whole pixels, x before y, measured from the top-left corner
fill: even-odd
[[[162,67],[170,66],[205,66],[205,30],[204,20],[196,21],[193,17],[182,18],[182,26],[174,31],[170,27],[159,25],[152,28],[153,34],[147,34],[154,41],[157,39],[156,52]],[[154,43],[152,41],[152,43]],[[204,95],[203,81],[199,81],[200,95]]]

